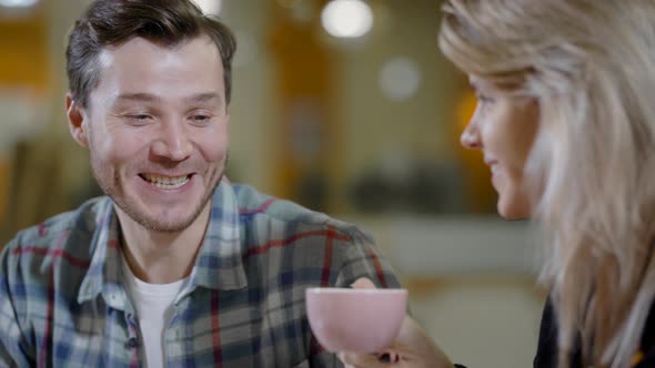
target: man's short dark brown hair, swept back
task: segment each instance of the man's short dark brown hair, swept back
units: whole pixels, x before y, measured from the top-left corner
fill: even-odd
[[[97,0],[69,35],[66,57],[72,98],[79,105],[87,106],[89,93],[100,81],[98,55],[108,45],[120,45],[141,37],[172,47],[202,34],[213,40],[221,54],[225,103],[229,104],[236,41],[218,18],[203,14],[190,0]]]

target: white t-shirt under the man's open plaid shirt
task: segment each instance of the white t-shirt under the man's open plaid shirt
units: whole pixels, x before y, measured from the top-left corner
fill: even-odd
[[[164,367],[164,328],[173,317],[173,301],[188,278],[171,284],[148,284],[134,276],[123,257],[123,283],[134,303],[142,347],[145,350],[143,367]]]

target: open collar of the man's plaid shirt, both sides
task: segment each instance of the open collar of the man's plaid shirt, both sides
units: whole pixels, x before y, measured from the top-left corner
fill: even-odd
[[[101,294],[108,305],[124,309],[127,294],[121,279],[120,226],[113,206],[109,197],[98,204],[95,232],[90,245],[93,255],[78,294],[78,303]],[[195,265],[178,299],[196,287],[230,290],[248,286],[242,263],[239,207],[226,178],[214,191],[211,206]]]

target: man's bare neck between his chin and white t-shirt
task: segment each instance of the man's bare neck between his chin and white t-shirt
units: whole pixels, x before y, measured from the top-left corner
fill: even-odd
[[[162,233],[147,229],[117,207],[122,251],[130,269],[150,284],[170,284],[191,274],[209,223],[211,203],[185,229]]]

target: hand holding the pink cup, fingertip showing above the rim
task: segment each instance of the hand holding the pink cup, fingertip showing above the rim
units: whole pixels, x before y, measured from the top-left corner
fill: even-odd
[[[374,288],[375,285],[360,278],[354,288]],[[352,368],[452,368],[453,364],[427,336],[427,334],[409,316],[403,320],[395,341],[380,354],[345,352],[339,354],[341,361]]]

